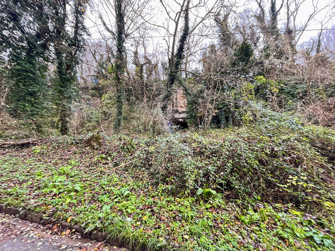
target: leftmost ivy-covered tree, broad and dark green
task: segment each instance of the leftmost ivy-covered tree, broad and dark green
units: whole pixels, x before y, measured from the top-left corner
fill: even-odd
[[[12,81],[8,95],[8,112],[24,119],[24,123],[40,130],[47,115],[49,1],[5,1],[7,10],[0,30],[0,53],[8,53],[8,79]]]

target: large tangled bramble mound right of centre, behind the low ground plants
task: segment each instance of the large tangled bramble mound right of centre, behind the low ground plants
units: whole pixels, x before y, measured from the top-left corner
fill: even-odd
[[[132,159],[129,168],[174,184],[178,192],[212,189],[241,199],[282,201],[303,209],[315,203],[329,213],[335,209],[335,132],[290,116],[273,112],[239,129],[123,138],[117,144]]]

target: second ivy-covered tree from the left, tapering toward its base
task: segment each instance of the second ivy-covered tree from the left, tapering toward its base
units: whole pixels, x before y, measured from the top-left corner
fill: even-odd
[[[67,13],[66,0],[58,0],[54,5],[54,51],[56,63],[56,105],[59,114],[61,134],[69,132],[68,119],[71,116],[71,103],[75,95],[74,81],[76,66],[79,64],[79,53],[83,50],[83,35],[87,33],[84,25],[85,4],[73,0],[72,20]],[[71,22],[67,24],[67,22]],[[67,26],[72,26],[72,34]]]

